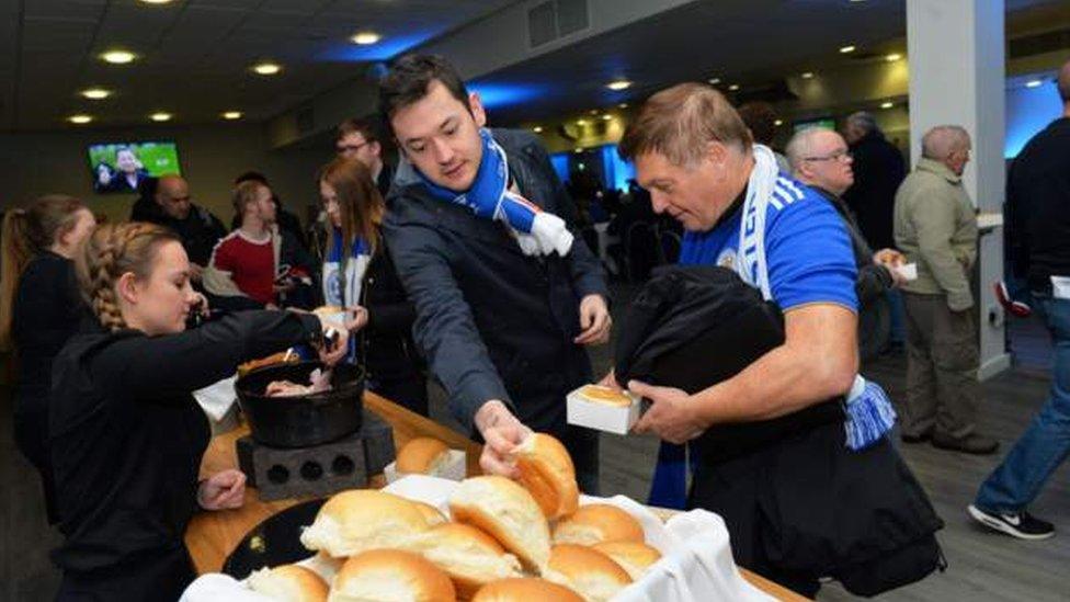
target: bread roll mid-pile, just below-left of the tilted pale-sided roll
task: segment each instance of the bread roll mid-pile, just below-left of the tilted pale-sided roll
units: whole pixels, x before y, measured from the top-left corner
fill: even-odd
[[[493,537],[463,523],[446,523],[424,533],[417,548],[424,558],[446,571],[463,599],[480,587],[521,577],[520,563]]]

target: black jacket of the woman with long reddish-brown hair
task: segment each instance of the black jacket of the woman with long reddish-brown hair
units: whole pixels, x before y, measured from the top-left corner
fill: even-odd
[[[361,283],[360,305],[367,308],[368,323],[360,333],[358,354],[369,380],[423,378],[423,359],[412,341],[417,311],[382,237],[379,245]]]

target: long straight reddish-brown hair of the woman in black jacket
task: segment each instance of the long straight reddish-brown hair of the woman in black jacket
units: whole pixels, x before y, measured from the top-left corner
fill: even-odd
[[[372,180],[372,172],[356,159],[339,157],[323,166],[316,179],[326,182],[338,195],[338,208],[342,215],[342,257],[349,258],[349,248],[357,237],[367,242],[375,254],[379,245],[378,225],[386,213],[386,204],[379,189]],[[334,228],[328,229],[328,249],[334,243]]]

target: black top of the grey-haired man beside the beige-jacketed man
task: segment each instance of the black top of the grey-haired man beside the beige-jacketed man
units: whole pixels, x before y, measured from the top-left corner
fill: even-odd
[[[902,154],[879,132],[870,132],[851,145],[854,155],[854,185],[843,193],[843,200],[858,217],[858,226],[869,245],[877,249],[892,249],[892,215],[896,191],[907,177]]]

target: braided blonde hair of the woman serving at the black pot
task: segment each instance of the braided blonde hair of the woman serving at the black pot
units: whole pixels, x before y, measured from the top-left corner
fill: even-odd
[[[180,242],[171,230],[140,223],[101,226],[89,237],[75,265],[82,296],[104,328],[126,328],[115,294],[118,280],[128,272],[148,279],[160,246],[170,241]]]

